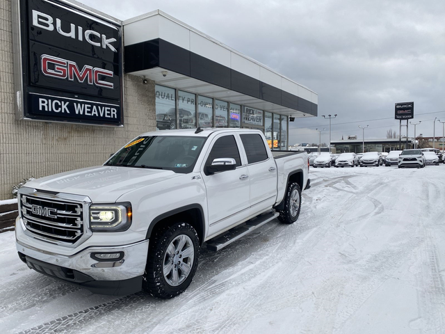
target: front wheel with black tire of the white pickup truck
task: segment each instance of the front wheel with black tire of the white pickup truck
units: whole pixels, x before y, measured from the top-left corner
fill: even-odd
[[[199,247],[197,233],[188,223],[175,223],[156,232],[150,239],[143,289],[162,299],[184,292],[195,276]],[[184,253],[188,256],[182,257]],[[164,275],[168,267],[170,271]]]

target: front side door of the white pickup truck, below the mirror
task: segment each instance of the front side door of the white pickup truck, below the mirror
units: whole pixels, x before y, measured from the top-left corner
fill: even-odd
[[[209,233],[207,237],[228,230],[250,214],[250,180],[247,166],[242,166],[238,143],[234,135],[220,135],[213,139],[213,145],[202,166],[202,177],[207,190]],[[235,170],[207,175],[205,168],[217,158],[233,158]]]

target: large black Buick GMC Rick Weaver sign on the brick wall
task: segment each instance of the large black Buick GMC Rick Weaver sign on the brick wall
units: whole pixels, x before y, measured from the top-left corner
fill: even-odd
[[[122,26],[65,1],[15,1],[21,118],[122,125]]]

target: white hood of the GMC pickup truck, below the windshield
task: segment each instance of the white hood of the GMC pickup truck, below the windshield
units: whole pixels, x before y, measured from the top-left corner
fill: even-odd
[[[88,196],[92,202],[115,202],[124,193],[180,175],[172,170],[97,166],[42,177],[27,182],[25,186]]]

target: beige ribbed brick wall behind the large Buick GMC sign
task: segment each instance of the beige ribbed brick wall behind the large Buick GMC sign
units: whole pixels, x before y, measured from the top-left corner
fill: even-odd
[[[0,200],[28,177],[97,166],[147,131],[156,129],[154,81],[124,77],[124,127],[15,120],[11,1],[0,0]]]

